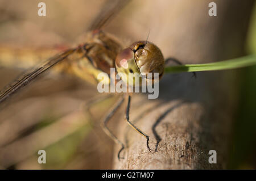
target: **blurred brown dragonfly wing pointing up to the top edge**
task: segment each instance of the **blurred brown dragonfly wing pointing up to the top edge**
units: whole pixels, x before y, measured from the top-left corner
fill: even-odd
[[[111,20],[114,15],[117,15],[131,0],[107,0],[102,5],[102,10],[92,21],[89,26],[89,31],[101,30],[104,25],[106,25],[109,20]]]

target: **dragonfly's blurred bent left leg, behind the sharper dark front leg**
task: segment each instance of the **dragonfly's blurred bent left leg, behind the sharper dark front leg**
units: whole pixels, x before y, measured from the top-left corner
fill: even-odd
[[[114,115],[115,111],[117,111],[117,109],[122,105],[123,103],[123,100],[125,100],[122,96],[122,98],[118,101],[118,103],[115,105],[115,107],[108,113],[108,115],[106,115],[104,121],[102,121],[101,123],[101,127],[102,129],[104,130],[104,132],[110,137],[112,138],[112,140],[121,145],[122,148],[118,151],[118,159],[120,160],[120,153],[121,151],[125,148],[125,145],[120,141],[118,140],[118,138],[116,136],[114,136],[114,134],[112,133],[112,131],[110,131],[110,129],[107,127],[107,124],[109,122],[109,120],[112,118],[112,116]]]

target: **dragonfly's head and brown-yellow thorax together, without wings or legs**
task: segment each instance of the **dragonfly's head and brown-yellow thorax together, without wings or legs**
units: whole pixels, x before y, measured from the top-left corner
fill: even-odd
[[[72,67],[72,73],[85,79],[88,82],[97,83],[98,74],[105,72],[108,74],[110,83],[110,68],[117,68],[118,73],[123,73],[122,80],[131,84],[129,73],[138,73],[134,76],[144,75],[147,79],[154,81],[154,73],[159,73],[159,78],[163,76],[164,57],[155,44],[149,41],[136,41],[129,48],[121,50],[121,43],[114,40],[114,37],[103,31],[94,31],[88,43],[77,48],[79,57],[69,58],[66,68]],[[70,68],[69,68],[70,69]],[[152,73],[152,77],[148,77]],[[92,80],[93,79],[93,80]],[[140,81],[141,83],[141,81]],[[134,82],[132,83],[134,86]]]

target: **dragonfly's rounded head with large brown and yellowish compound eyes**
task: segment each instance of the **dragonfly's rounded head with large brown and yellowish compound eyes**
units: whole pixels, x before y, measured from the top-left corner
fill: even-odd
[[[118,74],[126,75],[120,77],[131,86],[134,86],[134,78],[130,79],[129,73],[134,73],[135,78],[144,76],[146,81],[150,79],[154,82],[154,73],[158,73],[159,79],[163,76],[164,57],[155,44],[148,41],[136,41],[117,55],[115,67]],[[148,73],[151,73],[151,77]]]

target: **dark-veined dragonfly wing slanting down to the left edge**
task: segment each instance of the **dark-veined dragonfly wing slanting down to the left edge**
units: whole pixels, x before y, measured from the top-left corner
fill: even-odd
[[[0,104],[4,102],[7,98],[9,98],[11,95],[13,95],[16,91],[26,86],[36,77],[38,77],[38,75],[44,73],[44,71],[48,70],[49,68],[52,68],[52,66],[56,65],[60,61],[65,60],[65,58],[74,53],[75,50],[76,49],[65,50],[63,53],[57,54],[56,56],[49,58],[43,64],[36,66],[36,68],[32,69],[28,73],[20,75],[19,78],[16,79],[16,81],[11,83],[10,86],[7,86],[0,92]]]

